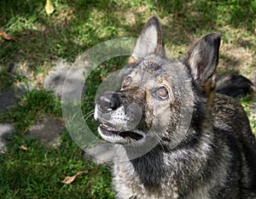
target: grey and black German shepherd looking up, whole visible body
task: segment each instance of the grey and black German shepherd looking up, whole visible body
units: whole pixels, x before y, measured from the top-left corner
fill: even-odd
[[[117,146],[116,198],[256,198],[247,115],[236,99],[216,92],[220,37],[207,34],[181,60],[168,60],[152,16],[120,89],[96,99],[98,132]]]

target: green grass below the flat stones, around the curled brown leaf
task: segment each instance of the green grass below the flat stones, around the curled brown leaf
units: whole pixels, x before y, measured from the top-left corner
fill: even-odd
[[[43,146],[37,139],[9,139],[9,150],[0,156],[0,192],[4,198],[109,198],[113,197],[109,168],[82,161],[81,151],[67,131],[61,146]],[[28,151],[20,150],[26,145]],[[62,180],[87,170],[73,184]]]

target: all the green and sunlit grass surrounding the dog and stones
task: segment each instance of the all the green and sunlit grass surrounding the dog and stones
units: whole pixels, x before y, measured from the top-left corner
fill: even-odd
[[[46,14],[45,1],[1,1],[0,31],[18,42],[0,37],[0,94],[3,89],[26,83],[33,86],[17,99],[0,122],[15,124],[0,156],[0,192],[4,198],[113,198],[110,168],[81,159],[81,150],[67,130],[57,148],[24,136],[39,117],[61,120],[61,101],[42,87],[56,62],[73,62],[88,48],[116,37],[137,37],[152,14],[160,16],[166,48],[180,57],[188,45],[210,31],[223,35],[219,73],[238,71],[255,75],[256,1],[137,1],[55,0],[53,14]],[[90,74],[82,109],[93,110],[96,88],[110,71],[124,66],[126,57],[104,62]],[[14,69],[15,71],[12,71]],[[241,99],[256,134],[253,99]],[[88,123],[96,129],[92,118]],[[20,150],[26,145],[28,151]],[[71,185],[61,181],[88,170]]]

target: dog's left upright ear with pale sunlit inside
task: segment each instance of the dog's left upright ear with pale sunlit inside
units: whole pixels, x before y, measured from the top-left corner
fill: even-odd
[[[160,20],[157,16],[152,16],[148,20],[141,35],[137,39],[137,43],[133,49],[129,62],[136,62],[136,60],[140,60],[148,54],[165,56],[163,32]]]

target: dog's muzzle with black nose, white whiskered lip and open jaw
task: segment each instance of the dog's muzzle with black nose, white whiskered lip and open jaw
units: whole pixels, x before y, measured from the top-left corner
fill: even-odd
[[[112,143],[131,143],[143,139],[142,134],[135,133],[137,120],[133,105],[125,108],[125,94],[109,92],[96,99],[95,119],[102,138]],[[141,114],[140,114],[141,115]]]

